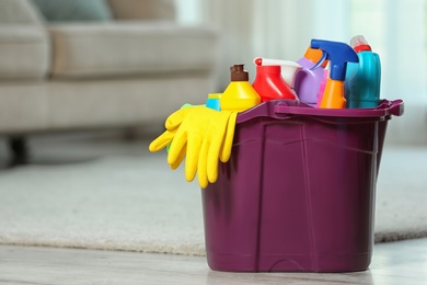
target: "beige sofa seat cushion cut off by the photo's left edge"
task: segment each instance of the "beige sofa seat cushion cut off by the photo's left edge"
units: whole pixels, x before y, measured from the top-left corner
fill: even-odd
[[[39,79],[50,67],[50,41],[37,25],[0,25],[0,81]]]

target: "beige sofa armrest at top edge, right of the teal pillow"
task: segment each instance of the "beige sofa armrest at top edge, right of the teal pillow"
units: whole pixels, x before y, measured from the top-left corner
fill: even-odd
[[[117,20],[168,20],[176,19],[173,0],[108,0]]]

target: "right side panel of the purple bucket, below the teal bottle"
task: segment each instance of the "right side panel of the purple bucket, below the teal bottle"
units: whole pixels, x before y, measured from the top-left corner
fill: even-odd
[[[379,121],[305,128],[318,272],[366,270],[373,244]]]

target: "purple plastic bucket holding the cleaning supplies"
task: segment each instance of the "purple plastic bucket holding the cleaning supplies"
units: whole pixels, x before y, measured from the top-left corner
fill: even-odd
[[[201,190],[209,266],[368,269],[386,124],[402,114],[401,100],[351,110],[278,100],[239,114],[230,161]]]

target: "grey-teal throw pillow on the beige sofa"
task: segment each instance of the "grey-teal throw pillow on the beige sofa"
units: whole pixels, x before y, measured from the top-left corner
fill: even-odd
[[[106,0],[32,0],[49,22],[109,21]]]

